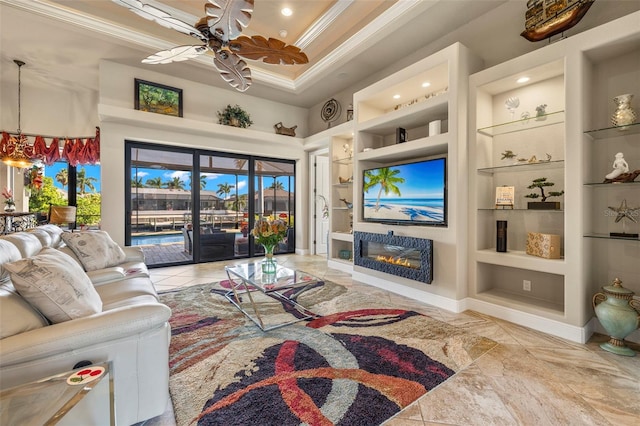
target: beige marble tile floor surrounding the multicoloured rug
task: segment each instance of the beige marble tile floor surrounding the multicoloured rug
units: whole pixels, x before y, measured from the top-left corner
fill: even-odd
[[[640,356],[603,351],[603,335],[578,344],[473,311],[452,313],[353,281],[349,274],[329,269],[324,257],[277,258],[286,266],[374,292],[390,306],[413,309],[499,343],[386,426],[640,424]],[[224,266],[240,262],[152,269],[151,277],[158,291],[187,287],[226,279]],[[640,351],[640,345],[630,346]],[[175,424],[168,401],[163,415],[141,425]]]

